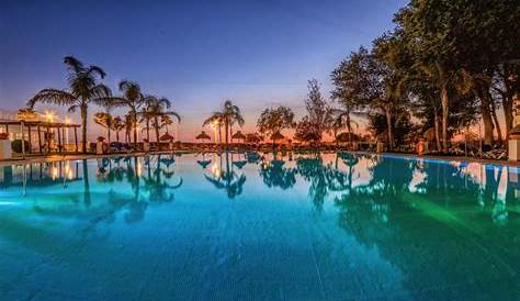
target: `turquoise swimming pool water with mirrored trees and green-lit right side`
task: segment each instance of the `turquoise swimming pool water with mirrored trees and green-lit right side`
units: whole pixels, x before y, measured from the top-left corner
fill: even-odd
[[[347,153],[0,167],[0,299],[519,300],[519,182]]]

